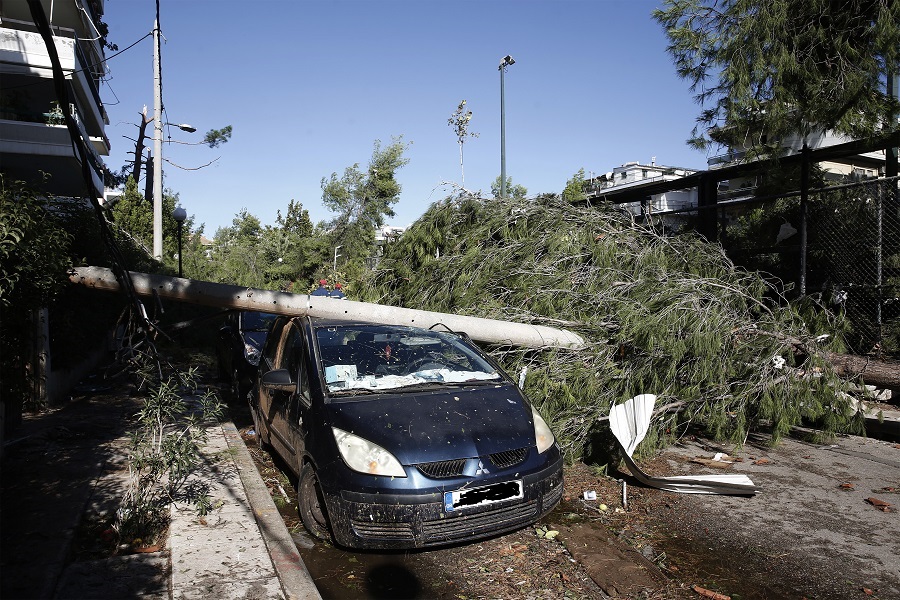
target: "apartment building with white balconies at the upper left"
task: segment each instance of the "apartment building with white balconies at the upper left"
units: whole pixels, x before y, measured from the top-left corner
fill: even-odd
[[[41,0],[69,91],[59,106],[47,47],[26,0],[0,0],[0,172],[64,197],[85,197],[81,162],[63,111],[85,140],[95,189],[103,190],[109,124],[100,100],[106,69],[104,0]]]

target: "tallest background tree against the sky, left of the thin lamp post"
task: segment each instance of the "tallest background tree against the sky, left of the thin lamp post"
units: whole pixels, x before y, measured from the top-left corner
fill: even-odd
[[[331,249],[340,246],[343,272],[350,279],[365,272],[366,259],[375,254],[376,231],[386,217],[394,216],[393,205],[400,199],[401,188],[395,174],[409,162],[403,156],[405,151],[402,136],[386,147],[376,141],[365,171],[357,163],[347,167],[341,177],[332,173],[322,178],[322,203],[336,213],[326,224],[327,245]]]

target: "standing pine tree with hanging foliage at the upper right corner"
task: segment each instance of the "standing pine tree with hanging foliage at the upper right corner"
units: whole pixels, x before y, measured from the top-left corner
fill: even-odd
[[[666,0],[653,16],[705,107],[694,147],[897,127],[898,103],[883,81],[900,71],[900,2]]]

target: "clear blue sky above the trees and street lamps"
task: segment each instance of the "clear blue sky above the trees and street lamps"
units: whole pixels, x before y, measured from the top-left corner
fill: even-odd
[[[450,114],[467,100],[465,185],[489,193],[500,174],[500,59],[506,168],[529,195],[562,191],[578,169],[628,161],[705,168],[685,145],[699,107],[678,79],[645,0],[161,0],[165,119],[199,140],[232,125],[216,149],[166,144],[165,186],[206,235],[242,208],[274,224],[291,199],[313,222],[331,214],[320,182],[403,136],[409,164],[391,224],[415,221],[460,181]],[[123,49],[153,28],[154,0],[107,0],[109,41]],[[108,53],[112,54],[112,53]],[[109,60],[101,94],[108,163],[133,150],[139,112],[153,111],[147,38]]]

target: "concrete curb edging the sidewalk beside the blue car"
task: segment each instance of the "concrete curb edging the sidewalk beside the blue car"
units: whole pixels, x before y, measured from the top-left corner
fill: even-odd
[[[241,483],[247,493],[247,500],[256,518],[263,541],[275,565],[275,572],[281,581],[285,597],[288,600],[321,600],[306,565],[300,558],[297,546],[284,524],[284,519],[275,507],[269,490],[263,482],[250,451],[244,445],[234,423],[222,423],[222,431],[228,448],[232,451],[234,462],[241,476]]]

